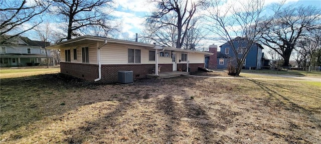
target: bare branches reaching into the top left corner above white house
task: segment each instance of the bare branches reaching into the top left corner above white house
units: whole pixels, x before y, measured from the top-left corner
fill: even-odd
[[[1,35],[10,33],[10,39],[33,29],[43,22],[42,15],[49,5],[50,2],[45,0],[35,0],[34,3],[27,3],[27,0],[2,0],[0,7]],[[31,25],[23,25],[27,22]]]

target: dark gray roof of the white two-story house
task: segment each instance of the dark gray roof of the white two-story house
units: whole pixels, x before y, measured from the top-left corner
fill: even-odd
[[[15,44],[15,45],[29,45],[29,46],[41,46],[41,48],[45,48],[45,46],[49,46],[50,42],[48,41],[38,41],[38,40],[31,40],[29,37],[26,36],[15,36],[10,38],[12,35],[1,35],[1,42],[4,41],[3,44]],[[10,39],[9,39],[10,38]],[[12,40],[15,38],[19,38],[22,41],[24,41],[25,44],[19,44],[19,43],[15,43]]]

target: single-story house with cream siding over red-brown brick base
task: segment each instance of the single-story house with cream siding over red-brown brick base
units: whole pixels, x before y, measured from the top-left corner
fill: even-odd
[[[159,65],[162,65],[161,72],[180,69],[194,72],[198,66],[204,66],[204,57],[212,54],[89,35],[47,48],[61,50],[61,73],[100,82],[117,82],[119,70],[132,70],[133,78],[144,78],[152,71],[158,75],[158,71],[152,69]]]

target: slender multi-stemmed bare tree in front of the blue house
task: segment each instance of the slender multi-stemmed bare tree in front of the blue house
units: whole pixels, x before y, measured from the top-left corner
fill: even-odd
[[[208,20],[208,29],[218,35],[219,40],[227,41],[235,55],[236,63],[233,64],[236,64],[236,69],[232,70],[235,73],[229,73],[239,75],[250,48],[256,44],[261,32],[267,28],[272,18],[264,18],[266,17],[263,14],[264,0],[238,0],[233,2],[211,0],[205,7],[205,15]],[[277,10],[280,5],[281,3],[274,8]],[[266,23],[262,24],[262,20]],[[238,50],[241,47],[243,52],[239,54]]]

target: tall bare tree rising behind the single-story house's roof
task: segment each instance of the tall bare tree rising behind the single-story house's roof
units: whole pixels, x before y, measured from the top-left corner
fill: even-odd
[[[175,29],[176,36],[171,39],[175,41],[175,46],[181,48],[187,35],[189,24],[193,18],[197,8],[204,3],[203,0],[151,0],[156,3],[157,10],[146,17],[147,23],[152,23],[154,30],[168,27],[167,29]],[[158,35],[162,38],[162,35]],[[165,35],[167,36],[167,35]],[[166,39],[166,37],[162,39]]]

